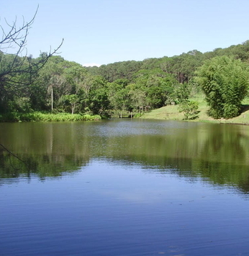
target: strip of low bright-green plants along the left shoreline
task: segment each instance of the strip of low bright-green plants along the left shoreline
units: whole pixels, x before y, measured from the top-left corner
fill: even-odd
[[[51,114],[43,112],[12,112],[0,115],[0,122],[72,122],[85,120],[101,120],[101,117],[99,115],[72,115],[68,113]]]

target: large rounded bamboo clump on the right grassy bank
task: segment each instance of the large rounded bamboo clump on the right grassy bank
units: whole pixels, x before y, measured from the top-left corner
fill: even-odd
[[[196,72],[213,118],[234,118],[249,85],[248,67],[242,61],[221,56],[208,60]]]

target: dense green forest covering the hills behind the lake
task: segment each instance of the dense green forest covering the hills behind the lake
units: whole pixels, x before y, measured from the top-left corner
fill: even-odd
[[[229,75],[234,78],[233,80],[238,79],[234,73],[242,74],[238,73],[236,66],[247,73],[243,73],[243,81],[240,81],[244,85],[243,93],[240,90],[240,83],[235,81],[235,94],[241,92],[243,95],[235,97],[235,94],[231,94],[230,97],[236,98],[237,102],[231,101],[232,107],[229,105],[223,112],[211,112],[211,115],[217,114],[214,118],[226,117],[226,111],[228,117],[240,112],[240,101],[248,90],[249,40],[207,53],[191,50],[180,56],[122,61],[99,67],[83,67],[79,63],[66,61],[63,57],[51,53],[41,53],[38,58],[32,58],[0,51],[1,120],[18,120],[22,115],[34,112],[101,116],[107,116],[115,111],[143,112],[169,105],[171,102],[186,102],[202,90],[205,92],[205,88],[207,94],[209,93],[206,94],[207,100],[210,100],[212,89],[207,89],[207,84],[214,87],[215,77],[218,77],[215,72],[220,58],[224,56],[234,60],[231,69],[236,72]],[[211,74],[209,69],[215,62],[212,62],[213,59],[217,60],[215,74]],[[223,63],[230,62],[223,60]],[[23,72],[17,71],[19,66],[22,66]],[[205,66],[209,71],[205,72]],[[8,72],[9,70],[12,72]],[[219,80],[228,74],[227,72],[223,72]],[[201,79],[202,76],[212,76],[212,81],[210,77],[204,81]],[[217,80],[215,82],[219,84]],[[225,81],[227,87],[233,80]],[[217,97],[223,97],[217,94],[226,94],[230,91],[229,87],[227,91],[219,92],[216,89],[215,92],[211,92],[212,102],[217,102]],[[208,102],[211,108],[212,102]],[[227,106],[227,102],[220,102],[219,108]],[[231,114],[230,109],[234,106],[237,109]]]

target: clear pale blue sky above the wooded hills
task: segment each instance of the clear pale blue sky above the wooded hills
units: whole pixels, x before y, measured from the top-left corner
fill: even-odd
[[[62,38],[60,56],[82,65],[207,52],[249,40],[248,0],[8,0],[1,2],[1,25],[4,18],[30,20],[38,4],[27,43],[34,57]]]

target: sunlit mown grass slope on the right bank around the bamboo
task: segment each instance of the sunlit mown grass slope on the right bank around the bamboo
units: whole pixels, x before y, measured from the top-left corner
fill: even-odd
[[[243,111],[236,118],[231,119],[214,119],[211,118],[207,111],[209,107],[204,100],[203,96],[194,97],[194,100],[199,103],[199,115],[196,120],[191,122],[211,122],[211,123],[241,123],[249,125],[249,98],[243,101]],[[178,111],[178,105],[168,105],[166,107],[160,107],[157,110],[152,110],[142,115],[143,119],[159,119],[159,120],[183,120],[184,114]]]

